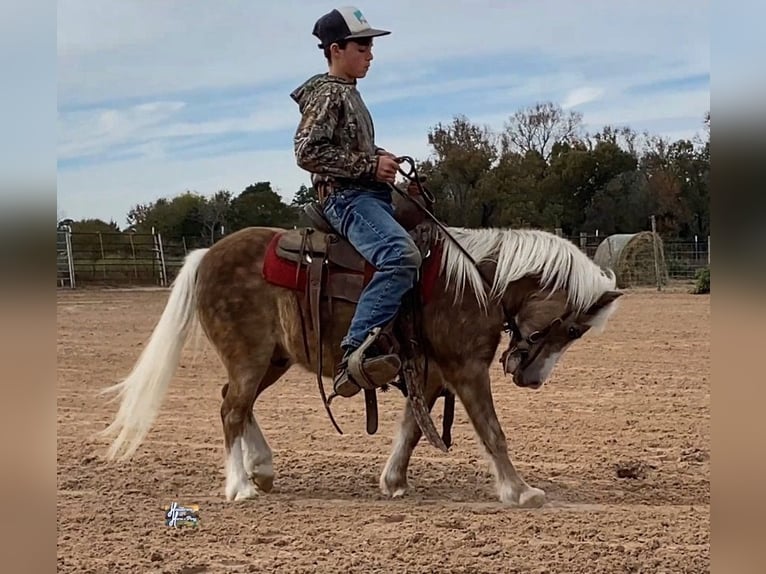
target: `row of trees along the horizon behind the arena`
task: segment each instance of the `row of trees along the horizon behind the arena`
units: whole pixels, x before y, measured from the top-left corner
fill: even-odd
[[[657,216],[660,231],[683,237],[710,230],[710,112],[706,140],[669,141],[630,126],[583,133],[582,116],[544,102],[520,109],[500,133],[459,115],[428,131],[431,153],[418,161],[436,197],[437,216],[449,225],[514,226],[603,233],[646,229]],[[301,185],[289,205],[267,181],[233,197],[186,192],[138,204],[132,229],[206,243],[226,226],[292,227],[301,208],[317,199]]]

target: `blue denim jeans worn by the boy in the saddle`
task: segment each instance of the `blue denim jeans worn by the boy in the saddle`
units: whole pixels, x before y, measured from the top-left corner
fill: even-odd
[[[341,341],[342,347],[356,349],[372,329],[396,316],[422,259],[410,234],[394,219],[390,191],[339,190],[327,198],[324,209],[335,231],[376,269]]]

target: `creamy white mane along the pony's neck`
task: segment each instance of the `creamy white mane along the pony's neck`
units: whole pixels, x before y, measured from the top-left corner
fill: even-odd
[[[508,285],[527,275],[539,275],[543,289],[567,289],[569,303],[583,311],[615,288],[614,273],[604,271],[574,243],[536,229],[450,228],[450,234],[477,262],[493,261],[497,270],[489,292],[476,267],[448,237],[442,239],[441,272],[454,285],[456,300],[466,289],[481,305],[500,297]]]

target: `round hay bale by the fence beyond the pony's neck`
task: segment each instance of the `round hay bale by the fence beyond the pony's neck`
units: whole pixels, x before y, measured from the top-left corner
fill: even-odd
[[[668,282],[662,238],[651,231],[619,233],[604,239],[596,249],[593,261],[617,276],[617,287],[640,287],[657,285],[654,267],[654,242],[657,242],[657,259],[660,284]]]

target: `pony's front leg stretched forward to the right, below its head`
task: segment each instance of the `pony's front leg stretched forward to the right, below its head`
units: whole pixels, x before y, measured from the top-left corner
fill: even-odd
[[[497,420],[492,400],[489,371],[484,367],[471,371],[470,376],[455,381],[455,394],[463,403],[476,434],[490,456],[498,497],[501,502],[512,506],[539,508],[545,503],[545,492],[524,482],[508,457],[505,434]]]

